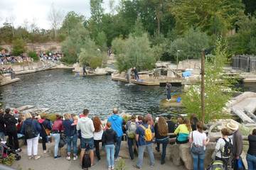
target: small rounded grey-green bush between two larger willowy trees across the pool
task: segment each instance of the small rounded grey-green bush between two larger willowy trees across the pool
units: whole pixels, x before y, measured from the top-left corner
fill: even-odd
[[[95,42],[88,39],[84,47],[81,48],[79,63],[82,66],[87,65],[92,67],[92,69],[96,69],[97,67],[102,66],[104,58],[105,55],[100,51],[99,48],[97,48]]]

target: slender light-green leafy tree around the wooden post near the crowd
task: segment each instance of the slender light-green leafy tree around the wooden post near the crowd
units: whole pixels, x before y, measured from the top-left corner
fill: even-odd
[[[223,67],[227,58],[227,43],[225,40],[218,38],[215,55],[206,57],[206,117],[204,120],[206,123],[225,116],[223,108],[232,96],[232,93],[227,92],[227,89],[230,88],[233,82],[223,77]],[[202,118],[200,86],[191,86],[188,92],[183,95],[183,106],[185,106],[187,113],[196,113],[198,118]]]

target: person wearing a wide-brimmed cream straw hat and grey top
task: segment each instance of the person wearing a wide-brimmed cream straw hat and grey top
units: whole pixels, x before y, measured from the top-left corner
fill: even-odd
[[[227,123],[227,128],[233,134],[233,160],[237,162],[242,154],[242,134],[235,120],[230,120],[230,122]]]

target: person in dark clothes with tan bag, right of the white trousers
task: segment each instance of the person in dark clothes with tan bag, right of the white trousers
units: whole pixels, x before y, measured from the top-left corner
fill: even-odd
[[[46,154],[46,142],[48,141],[48,135],[50,135],[51,130],[50,120],[46,119],[46,113],[41,115],[38,123],[41,125],[40,136],[42,137],[43,153]]]

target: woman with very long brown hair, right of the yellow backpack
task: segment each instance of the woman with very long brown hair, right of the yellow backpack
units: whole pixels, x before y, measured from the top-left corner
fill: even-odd
[[[169,137],[168,137],[168,125],[166,123],[166,120],[164,117],[160,117],[158,120],[158,123],[156,123],[155,127],[155,133],[156,133],[156,143],[162,144],[162,152],[161,152],[161,164],[165,163],[165,157],[166,157],[166,146],[169,143]],[[160,145],[156,147],[157,151],[160,151]]]

